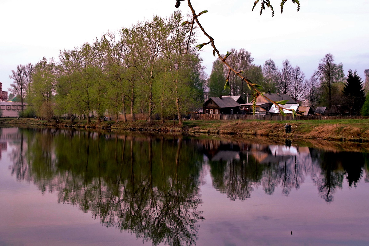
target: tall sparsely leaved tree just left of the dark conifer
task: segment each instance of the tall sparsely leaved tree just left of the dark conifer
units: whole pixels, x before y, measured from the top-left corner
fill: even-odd
[[[320,83],[323,88],[326,88],[328,94],[328,106],[332,105],[332,84],[343,81],[344,72],[342,63],[334,63],[334,56],[327,54],[320,60],[318,70],[315,72],[320,78]]]

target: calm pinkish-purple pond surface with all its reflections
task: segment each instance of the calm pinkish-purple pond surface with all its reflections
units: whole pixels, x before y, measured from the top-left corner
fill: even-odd
[[[0,246],[369,245],[362,145],[0,128],[0,147]]]

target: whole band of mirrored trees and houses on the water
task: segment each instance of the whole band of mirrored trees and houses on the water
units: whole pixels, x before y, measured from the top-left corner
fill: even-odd
[[[196,243],[205,219],[199,205],[207,165],[213,187],[230,201],[251,198],[256,189],[289,196],[311,178],[319,196],[332,203],[345,179],[349,187],[369,181],[367,154],[291,140],[257,144],[68,129],[3,129],[0,140],[14,147],[11,173],[18,180],[153,245]]]

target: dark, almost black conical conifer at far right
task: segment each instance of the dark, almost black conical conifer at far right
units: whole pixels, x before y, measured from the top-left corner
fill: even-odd
[[[348,70],[343,95],[345,106],[349,108],[350,115],[358,114],[365,101],[365,93],[363,90],[362,80],[356,71],[352,73],[352,70]]]

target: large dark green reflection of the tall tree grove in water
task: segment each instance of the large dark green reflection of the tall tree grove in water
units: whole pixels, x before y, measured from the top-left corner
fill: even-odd
[[[195,244],[204,219],[197,211],[202,156],[182,137],[21,130],[25,135],[20,145],[27,148],[14,152],[22,160],[13,165],[19,179],[153,245]]]

